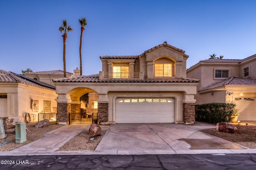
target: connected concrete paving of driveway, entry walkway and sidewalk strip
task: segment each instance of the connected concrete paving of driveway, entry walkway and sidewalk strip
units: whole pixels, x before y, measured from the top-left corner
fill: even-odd
[[[202,133],[200,129],[215,125],[196,122],[195,125],[172,123],[112,124],[96,150],[57,151],[64,143],[90,125],[67,125],[48,132],[44,138],[0,152],[3,156],[18,155],[90,155],[90,154],[230,154],[256,153],[224,139]],[[108,126],[101,126],[102,129]]]

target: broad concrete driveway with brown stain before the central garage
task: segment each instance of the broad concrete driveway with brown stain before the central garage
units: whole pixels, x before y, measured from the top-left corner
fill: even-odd
[[[204,150],[216,153],[220,149],[246,149],[199,131],[207,128],[215,126],[205,123],[112,124],[95,151],[109,154],[193,154],[204,153]]]

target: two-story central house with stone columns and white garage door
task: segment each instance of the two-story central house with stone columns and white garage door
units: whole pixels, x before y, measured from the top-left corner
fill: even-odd
[[[141,55],[102,56],[102,71],[90,76],[54,79],[57,121],[80,113],[80,97],[106,123],[193,123],[196,86],[187,78],[185,51],[166,42]],[[91,96],[91,97],[90,97]],[[93,98],[90,100],[90,98]]]

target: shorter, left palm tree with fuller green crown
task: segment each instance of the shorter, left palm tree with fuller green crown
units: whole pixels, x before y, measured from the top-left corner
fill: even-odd
[[[63,37],[63,72],[64,72],[64,77],[67,77],[66,76],[66,41],[67,41],[67,33],[69,31],[73,31],[73,29],[70,27],[70,25],[68,25],[68,22],[67,20],[62,20],[62,25],[61,27],[59,28],[59,31],[63,33],[62,37]]]

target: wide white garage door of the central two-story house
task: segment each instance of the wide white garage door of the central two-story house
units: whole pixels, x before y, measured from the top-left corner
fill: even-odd
[[[117,98],[116,123],[174,123],[174,98]]]

